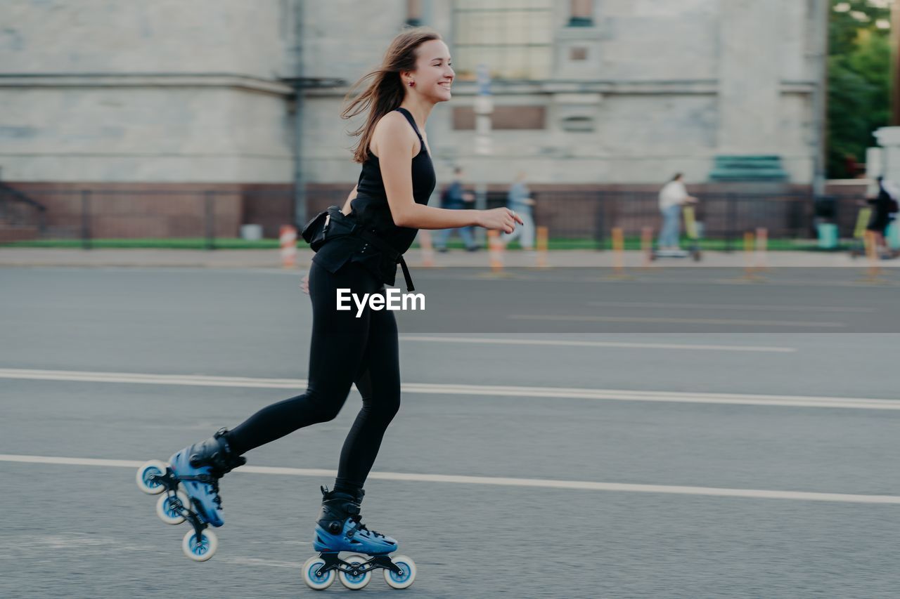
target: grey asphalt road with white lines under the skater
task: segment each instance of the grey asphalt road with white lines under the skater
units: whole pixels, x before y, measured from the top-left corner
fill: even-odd
[[[900,395],[896,281],[608,274],[413,273],[427,309],[398,317],[403,406],[363,513],[419,575],[362,593],[896,596],[900,402],[866,402]],[[0,270],[0,596],[313,593],[300,565],[331,478],[236,470],[219,551],[196,564],[130,466],[302,392],[298,284],[267,270]],[[357,405],[354,391],[335,421],[248,465],[336,469]]]

